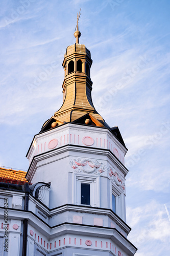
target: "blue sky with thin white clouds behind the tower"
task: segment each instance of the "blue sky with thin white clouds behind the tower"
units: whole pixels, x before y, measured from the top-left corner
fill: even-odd
[[[93,103],[129,149],[128,238],[136,256],[169,256],[168,0],[3,1],[0,165],[27,170],[34,134],[60,108],[62,61],[75,43],[80,7],[80,44],[93,59]]]

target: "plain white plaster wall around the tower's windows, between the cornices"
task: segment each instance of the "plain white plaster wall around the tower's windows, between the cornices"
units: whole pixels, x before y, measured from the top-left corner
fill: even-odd
[[[43,157],[42,160],[40,158],[36,165],[35,174],[30,182],[34,184],[37,182],[51,182],[49,207],[55,208],[64,204],[76,204],[75,197],[77,190],[75,189],[77,185],[75,182],[75,175],[79,175],[82,177],[100,177],[100,181],[96,186],[96,191],[93,192],[93,197],[95,197],[96,195],[96,200],[99,200],[99,203],[97,204],[98,207],[110,209],[112,208],[111,191],[109,185],[111,177],[109,176],[108,170],[108,167],[110,166],[110,159],[108,158],[108,156],[104,154],[101,155],[99,153],[100,152],[98,152],[98,154],[92,154],[90,151],[85,152],[84,150],[83,152],[81,152],[80,148],[77,148],[77,151],[74,149],[74,151],[68,150],[62,153],[60,153],[60,151],[56,151],[56,154],[51,157],[46,156]],[[70,164],[73,159],[78,159],[77,161],[83,161],[83,159],[87,159],[88,161],[91,161],[91,163],[98,161],[102,163],[101,166],[105,166],[104,172],[98,174],[94,174],[94,172],[85,173],[83,170],[79,169],[79,167],[81,168],[81,166],[77,166],[77,168],[74,169]],[[115,170],[117,170],[118,172],[118,167],[114,164],[114,162],[112,162],[112,166],[114,166]],[[90,169],[89,166],[88,168]],[[97,168],[96,170],[98,169],[99,168]],[[119,171],[118,173],[121,174],[122,180],[124,181],[122,172]],[[114,178],[114,176],[112,176],[112,178]],[[114,184],[114,186],[119,189],[116,184]],[[124,191],[120,191],[120,193],[124,193]],[[120,200],[122,200],[122,198]],[[117,214],[125,220],[124,206],[122,211],[119,210]]]

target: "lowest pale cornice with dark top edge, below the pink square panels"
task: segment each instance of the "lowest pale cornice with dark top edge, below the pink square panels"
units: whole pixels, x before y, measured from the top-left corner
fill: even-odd
[[[0,217],[4,216],[4,208],[0,207]],[[50,226],[44,221],[42,221],[39,217],[37,217],[31,211],[23,211],[18,209],[8,208],[8,218],[15,220],[28,220],[29,224],[32,225],[36,230],[44,234],[48,239],[53,239],[57,236],[61,236],[63,234],[78,234],[89,237],[101,237],[105,236],[107,239],[111,239],[116,242],[121,248],[129,255],[133,255],[137,248],[121,234],[116,228],[110,227],[101,227],[101,226],[92,226],[85,224],[76,224],[76,223],[61,223],[56,226]]]

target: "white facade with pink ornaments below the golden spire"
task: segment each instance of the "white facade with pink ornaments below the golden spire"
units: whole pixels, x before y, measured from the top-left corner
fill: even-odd
[[[44,144],[44,152],[38,152],[36,148]],[[113,154],[115,148],[120,157]],[[25,219],[27,255],[134,255],[136,248],[126,239],[130,232],[125,211],[128,170],[120,161],[126,151],[101,127],[66,123],[36,135],[28,153],[31,159],[36,152],[27,175],[36,184],[30,186],[28,210],[23,210],[23,191],[8,191],[8,196],[1,191],[1,200],[8,197],[10,219],[9,251],[2,255],[14,255],[14,248],[15,255],[22,255]],[[90,205],[81,204],[81,183],[90,184]],[[111,210],[112,194],[115,213]],[[4,237],[4,230],[0,232]]]

